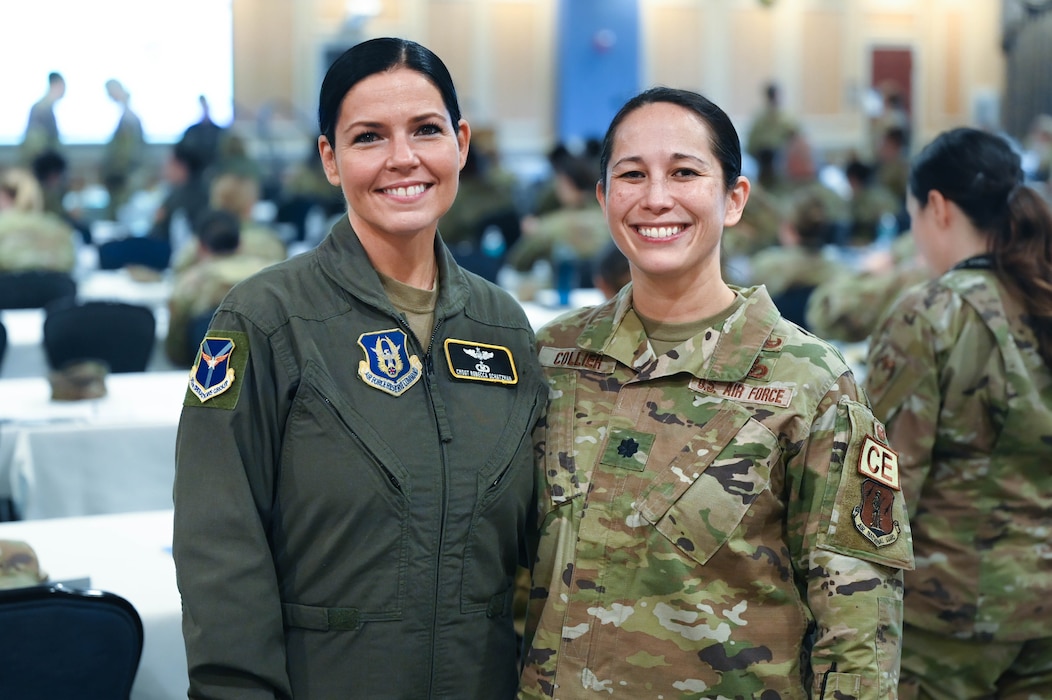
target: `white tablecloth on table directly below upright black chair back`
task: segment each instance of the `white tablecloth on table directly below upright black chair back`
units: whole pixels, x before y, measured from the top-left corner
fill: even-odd
[[[170,507],[186,381],[109,375],[104,398],[65,402],[46,379],[0,380],[0,495],[24,519]]]

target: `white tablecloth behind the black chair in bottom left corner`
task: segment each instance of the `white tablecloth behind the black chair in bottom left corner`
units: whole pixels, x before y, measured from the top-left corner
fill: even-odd
[[[171,517],[167,509],[0,523],[0,539],[28,542],[52,581],[88,578],[135,605],[144,641],[133,700],[186,698]]]

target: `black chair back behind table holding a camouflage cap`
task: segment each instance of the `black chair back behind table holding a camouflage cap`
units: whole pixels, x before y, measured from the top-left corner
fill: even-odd
[[[109,372],[145,372],[157,341],[157,319],[146,306],[117,301],[54,304],[44,319],[44,355],[52,369],[102,360]]]

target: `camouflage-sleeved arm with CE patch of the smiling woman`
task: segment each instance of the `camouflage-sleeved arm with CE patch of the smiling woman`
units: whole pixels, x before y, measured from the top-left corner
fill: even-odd
[[[894,454],[863,401],[851,375],[841,376],[788,466],[790,552],[815,623],[815,698],[897,693],[901,569],[913,566],[912,544],[902,492],[885,483]]]

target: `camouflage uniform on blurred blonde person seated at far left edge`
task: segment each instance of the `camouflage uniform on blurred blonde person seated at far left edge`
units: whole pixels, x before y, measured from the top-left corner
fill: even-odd
[[[54,214],[0,213],[0,272],[72,272],[77,263],[74,231]]]

